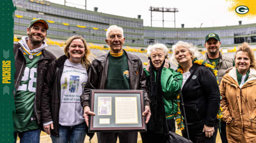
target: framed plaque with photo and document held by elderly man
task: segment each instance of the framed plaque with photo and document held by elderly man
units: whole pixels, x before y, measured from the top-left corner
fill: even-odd
[[[89,131],[146,131],[143,90],[91,90]]]

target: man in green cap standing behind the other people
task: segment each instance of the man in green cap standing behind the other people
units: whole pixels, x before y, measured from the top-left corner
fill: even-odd
[[[225,75],[227,68],[233,67],[233,59],[223,55],[219,52],[219,47],[221,47],[221,41],[219,40],[219,35],[216,33],[210,33],[205,37],[205,48],[207,48],[207,53],[205,53],[204,61],[211,62],[216,70],[218,70],[218,81],[221,83],[222,77]],[[226,135],[226,122],[220,122],[221,128],[219,132],[221,135],[222,143],[227,143]]]

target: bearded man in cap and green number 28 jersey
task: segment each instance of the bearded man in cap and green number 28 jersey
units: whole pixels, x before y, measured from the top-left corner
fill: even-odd
[[[27,35],[18,44],[13,44],[15,56],[15,140],[20,142],[40,140],[40,102],[44,73],[56,58],[44,49],[48,24],[44,19],[34,19],[27,27]]]

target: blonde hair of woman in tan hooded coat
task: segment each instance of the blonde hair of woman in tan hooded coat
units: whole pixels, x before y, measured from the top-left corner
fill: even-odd
[[[243,42],[241,45],[238,45],[238,50],[236,50],[235,58],[236,58],[236,54],[240,51],[248,53],[249,58],[251,60],[250,67],[252,67],[256,70],[256,61],[255,61],[255,57],[254,57],[254,50],[252,50],[252,48],[249,47],[249,44],[247,42]]]

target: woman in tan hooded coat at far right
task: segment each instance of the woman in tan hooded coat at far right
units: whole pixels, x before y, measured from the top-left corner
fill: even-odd
[[[256,61],[254,50],[244,42],[219,85],[223,120],[229,142],[256,142]]]

